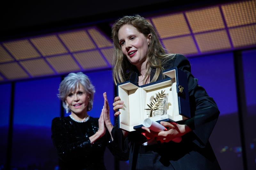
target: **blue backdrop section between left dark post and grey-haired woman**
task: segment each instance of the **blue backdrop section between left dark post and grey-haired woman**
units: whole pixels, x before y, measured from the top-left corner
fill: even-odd
[[[17,82],[15,85],[12,167],[52,169],[57,153],[51,122],[60,116],[60,77]]]

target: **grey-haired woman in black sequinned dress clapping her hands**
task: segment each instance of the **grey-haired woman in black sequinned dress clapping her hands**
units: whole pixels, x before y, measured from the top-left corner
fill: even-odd
[[[94,93],[94,86],[82,72],[70,73],[60,83],[58,97],[66,112],[71,112],[52,120],[52,141],[60,169],[106,169],[103,154],[106,146],[112,147],[109,130],[113,126],[110,121],[106,126],[104,123],[103,117],[110,120],[106,92],[100,118],[87,114],[92,109]]]

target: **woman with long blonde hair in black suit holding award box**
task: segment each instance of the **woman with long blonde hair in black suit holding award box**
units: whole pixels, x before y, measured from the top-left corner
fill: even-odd
[[[112,27],[114,41],[113,79],[116,84],[132,81],[145,85],[164,79],[163,70],[177,67],[187,74],[191,119],[177,123],[160,122],[168,130],[154,132],[142,127],[144,135],[118,129],[112,136],[123,152],[128,152],[130,169],[220,169],[208,141],[219,116],[214,100],[197,84],[188,59],[167,54],[154,27],[139,15],[124,16]],[[115,116],[123,101],[114,99]],[[173,139],[181,137],[181,141]],[[149,145],[148,139],[155,139]]]

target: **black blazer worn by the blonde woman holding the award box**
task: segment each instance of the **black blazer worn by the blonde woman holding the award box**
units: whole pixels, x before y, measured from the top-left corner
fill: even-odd
[[[145,138],[137,131],[124,137],[118,129],[118,120],[112,129],[114,142],[125,153],[129,152],[130,169],[220,169],[218,161],[208,141],[220,114],[214,100],[208,96],[204,88],[197,84],[198,80],[191,74],[190,63],[183,55],[176,54],[163,65],[164,70],[177,67],[187,74],[191,119],[179,124],[188,125],[192,131],[182,136],[180,143],[170,141],[164,144],[141,146],[139,141]],[[152,69],[150,80],[156,69]],[[163,79],[162,74],[158,80]],[[138,83],[138,73],[133,72],[130,81]]]

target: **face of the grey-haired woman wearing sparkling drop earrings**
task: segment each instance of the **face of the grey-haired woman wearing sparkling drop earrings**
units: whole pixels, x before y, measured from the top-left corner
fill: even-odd
[[[89,100],[90,95],[87,94],[84,87],[79,84],[78,88],[76,88],[74,92],[70,92],[68,94],[66,104],[73,114],[87,113]]]

